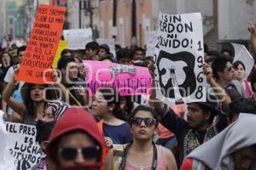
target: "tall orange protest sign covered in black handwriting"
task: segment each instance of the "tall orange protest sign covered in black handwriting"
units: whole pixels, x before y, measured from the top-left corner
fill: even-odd
[[[52,63],[61,38],[65,8],[41,4],[16,80],[51,82]]]

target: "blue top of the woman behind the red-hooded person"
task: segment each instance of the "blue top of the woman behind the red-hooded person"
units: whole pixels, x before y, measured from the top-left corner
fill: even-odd
[[[103,133],[105,137],[113,140],[113,144],[127,144],[132,139],[130,125],[127,122],[118,126],[108,125],[103,122]]]

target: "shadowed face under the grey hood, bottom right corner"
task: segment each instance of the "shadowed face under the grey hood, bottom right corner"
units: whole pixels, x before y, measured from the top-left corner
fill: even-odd
[[[256,152],[251,147],[241,149],[233,154],[235,170],[251,170],[256,161]]]

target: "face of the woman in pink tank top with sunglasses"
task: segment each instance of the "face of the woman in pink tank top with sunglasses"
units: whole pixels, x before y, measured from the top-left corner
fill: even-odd
[[[152,139],[156,133],[156,120],[149,111],[137,111],[131,118],[131,133],[135,139]]]

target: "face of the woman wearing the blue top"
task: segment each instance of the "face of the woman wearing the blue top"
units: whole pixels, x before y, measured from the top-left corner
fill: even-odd
[[[95,98],[92,102],[92,112],[95,116],[102,116],[109,111],[108,102],[104,99],[103,94],[96,91]]]

